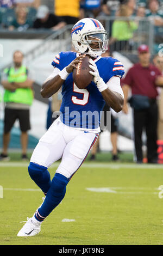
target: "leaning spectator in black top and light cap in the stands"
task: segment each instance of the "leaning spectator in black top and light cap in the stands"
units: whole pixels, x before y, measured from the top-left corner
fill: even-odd
[[[34,21],[33,28],[42,28],[57,31],[65,27],[65,21],[60,17],[49,12],[49,8],[46,5],[40,5],[37,10],[36,20]]]

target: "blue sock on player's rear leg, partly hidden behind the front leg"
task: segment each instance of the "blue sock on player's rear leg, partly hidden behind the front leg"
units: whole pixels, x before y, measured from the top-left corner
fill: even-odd
[[[36,163],[29,163],[28,172],[30,178],[41,188],[43,193],[46,195],[49,188],[51,187],[51,175],[49,174],[47,167],[40,166]]]

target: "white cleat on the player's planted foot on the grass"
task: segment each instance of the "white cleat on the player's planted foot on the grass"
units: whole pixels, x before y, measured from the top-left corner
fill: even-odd
[[[39,234],[40,230],[41,222],[37,223],[33,221],[33,218],[27,217],[27,222],[23,225],[17,236],[34,236],[36,234]]]

